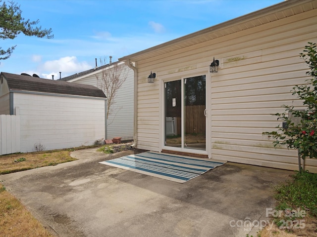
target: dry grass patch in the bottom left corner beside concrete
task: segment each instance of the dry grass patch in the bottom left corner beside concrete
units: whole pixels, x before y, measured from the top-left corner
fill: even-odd
[[[0,236],[53,237],[39,221],[0,185]]]

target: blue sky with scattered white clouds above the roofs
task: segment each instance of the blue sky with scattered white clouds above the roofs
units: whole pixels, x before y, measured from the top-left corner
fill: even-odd
[[[5,0],[8,2],[7,0]],[[15,0],[53,39],[18,35],[0,71],[59,78],[260,10],[283,0]],[[2,0],[3,2],[3,0]],[[2,4],[0,2],[0,4]]]

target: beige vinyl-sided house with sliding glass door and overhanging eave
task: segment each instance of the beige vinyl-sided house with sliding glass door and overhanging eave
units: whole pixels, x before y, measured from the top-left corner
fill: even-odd
[[[290,91],[307,79],[300,53],[316,29],[317,0],[287,0],[120,58],[135,72],[134,146],[298,169],[297,151],[262,133],[281,125],[271,115],[281,105],[303,108]],[[305,162],[317,172],[317,159]]]

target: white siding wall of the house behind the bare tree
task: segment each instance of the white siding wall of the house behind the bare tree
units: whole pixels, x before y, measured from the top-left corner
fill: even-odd
[[[116,93],[112,113],[107,119],[107,139],[133,135],[133,70],[126,67],[128,72],[125,82]],[[102,78],[102,72],[75,80],[73,83],[82,83],[97,86],[96,76]]]

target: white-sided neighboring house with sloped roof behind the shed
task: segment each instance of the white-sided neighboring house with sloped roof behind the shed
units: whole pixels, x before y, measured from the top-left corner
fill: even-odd
[[[124,65],[124,62],[113,62],[96,67],[85,72],[77,73],[60,80],[89,84],[99,87],[98,79],[102,79],[103,72],[111,71],[116,66],[124,67],[122,77],[126,78],[122,86],[117,90],[114,104],[111,105],[107,118],[106,139],[122,137],[122,139],[133,139],[133,70]],[[106,94],[106,91],[104,91]]]

